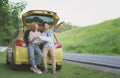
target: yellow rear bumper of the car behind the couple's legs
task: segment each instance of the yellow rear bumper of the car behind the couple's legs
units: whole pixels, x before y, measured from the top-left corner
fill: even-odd
[[[63,53],[62,53],[61,48],[56,49],[56,64],[57,65],[62,65],[62,60],[63,60],[62,54]],[[30,64],[27,47],[16,47],[15,64],[16,65]],[[48,57],[48,64],[52,64],[52,61],[49,57]]]

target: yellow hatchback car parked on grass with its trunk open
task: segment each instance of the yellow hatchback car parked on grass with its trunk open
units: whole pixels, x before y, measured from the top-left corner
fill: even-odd
[[[27,51],[27,37],[33,20],[39,22],[40,31],[43,32],[41,23],[48,22],[50,27],[52,27],[58,22],[59,17],[55,12],[47,10],[30,10],[22,15],[23,27],[15,32],[12,40],[7,39],[7,42],[10,44],[6,50],[6,64],[10,64],[13,70],[16,70],[20,65],[30,65]],[[54,35],[54,42],[56,47],[56,70],[60,70],[62,67],[62,46],[56,35]],[[42,45],[40,48],[42,49]],[[52,62],[49,55],[47,58],[48,64],[51,65]]]

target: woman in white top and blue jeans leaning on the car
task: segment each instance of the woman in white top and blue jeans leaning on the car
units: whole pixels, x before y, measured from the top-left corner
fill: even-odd
[[[30,31],[28,39],[28,52],[29,52],[29,59],[32,67],[30,68],[33,72],[41,74],[42,72],[37,67],[40,64],[42,59],[42,52],[39,48],[38,37],[40,36],[40,32],[38,31],[38,23],[32,22],[32,31]],[[37,53],[37,58],[35,58],[34,54]]]

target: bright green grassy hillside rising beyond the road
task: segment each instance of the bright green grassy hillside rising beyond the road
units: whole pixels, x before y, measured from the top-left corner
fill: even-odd
[[[64,52],[120,55],[120,18],[57,35]]]

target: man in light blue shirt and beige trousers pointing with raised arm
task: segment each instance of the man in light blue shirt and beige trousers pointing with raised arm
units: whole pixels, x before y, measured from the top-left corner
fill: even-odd
[[[49,24],[47,22],[43,23],[44,26],[44,32],[42,33],[42,36],[45,37],[51,37],[52,40],[51,41],[46,41],[43,45],[43,63],[44,63],[44,68],[45,71],[44,72],[48,72],[47,69],[47,54],[50,54],[50,57],[52,59],[52,73],[55,74],[56,73],[56,58],[55,58],[55,46],[54,46],[54,32],[56,29],[59,28],[59,26],[61,26],[61,24],[63,24],[63,22],[55,25],[53,28],[49,29]]]

